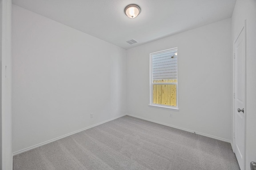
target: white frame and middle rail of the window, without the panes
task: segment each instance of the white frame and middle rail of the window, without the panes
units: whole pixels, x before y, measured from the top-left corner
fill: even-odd
[[[175,48],[171,48],[171,49],[166,49],[166,50],[162,50],[162,51],[157,51],[157,52],[154,52],[154,53],[150,53],[150,78],[149,78],[149,81],[150,81],[150,103],[148,106],[150,107],[156,107],[156,108],[161,108],[161,109],[168,109],[168,110],[174,110],[174,111],[177,111],[179,108],[178,108],[178,76],[177,76],[177,82],[176,83],[153,83],[153,74],[152,74],[152,56],[153,55],[156,55],[156,54],[160,54],[160,53],[165,53],[167,51],[172,51],[176,49],[177,50],[177,74],[178,74],[178,47],[175,47]],[[176,106],[167,106],[167,105],[162,105],[162,104],[154,104],[153,103],[153,85],[154,84],[176,84]]]

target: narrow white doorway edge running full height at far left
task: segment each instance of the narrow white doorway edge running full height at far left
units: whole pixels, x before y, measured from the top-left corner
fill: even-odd
[[[2,138],[2,165],[0,169],[12,169],[12,102],[11,102],[11,80],[12,80],[12,1],[1,0],[1,138]]]

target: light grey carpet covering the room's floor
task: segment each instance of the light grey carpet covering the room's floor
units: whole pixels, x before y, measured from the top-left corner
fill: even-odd
[[[239,170],[230,143],[124,116],[14,156],[14,170]]]

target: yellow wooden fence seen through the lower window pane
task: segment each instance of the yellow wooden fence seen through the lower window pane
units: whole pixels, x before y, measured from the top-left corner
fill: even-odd
[[[154,80],[153,83],[176,83],[177,80]],[[176,84],[154,84],[153,103],[176,106]]]

